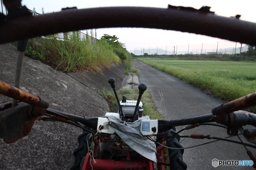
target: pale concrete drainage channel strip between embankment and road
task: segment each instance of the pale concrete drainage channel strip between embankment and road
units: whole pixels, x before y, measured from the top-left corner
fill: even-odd
[[[131,69],[135,69],[135,64],[132,64]],[[140,84],[140,79],[136,73],[132,74],[129,72],[129,75],[125,76],[124,82],[122,84],[122,89],[138,88]]]

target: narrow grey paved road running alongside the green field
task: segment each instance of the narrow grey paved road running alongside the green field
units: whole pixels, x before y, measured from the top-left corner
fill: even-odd
[[[164,114],[165,119],[178,119],[179,115],[180,118],[186,118],[209,114],[214,106],[223,102],[174,76],[154,69],[142,62],[136,61],[135,64],[140,71],[140,82],[145,83],[147,89],[152,90],[152,99],[155,101],[158,110]],[[159,92],[163,96],[160,96]],[[164,102],[163,100],[161,102],[161,97]],[[183,127],[176,128],[179,130]],[[184,135],[189,135],[194,130],[196,129],[190,129]],[[210,134],[217,137],[228,136],[225,129],[215,126],[204,126],[194,134]],[[232,137],[231,139],[238,140],[237,137]],[[184,147],[188,147],[208,141],[208,139],[185,139],[181,144]],[[218,166],[215,168],[212,166],[212,160],[215,158],[218,160],[249,160],[242,145],[225,141],[186,149],[183,154],[183,160],[188,165],[188,169],[253,169],[246,166]]]

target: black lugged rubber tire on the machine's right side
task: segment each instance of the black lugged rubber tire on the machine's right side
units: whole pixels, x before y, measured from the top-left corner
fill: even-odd
[[[176,133],[176,128],[173,127],[171,130],[165,132],[165,136],[172,136]],[[169,138],[167,139],[167,146],[170,148],[183,148],[179,144],[180,138]],[[182,155],[184,149],[168,149],[169,159],[170,159],[170,170],[185,170],[187,169],[187,164],[183,162]]]

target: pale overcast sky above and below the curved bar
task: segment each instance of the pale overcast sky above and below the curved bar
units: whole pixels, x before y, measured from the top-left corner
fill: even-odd
[[[26,5],[27,8],[33,9],[36,8],[38,13],[41,13],[41,8],[43,7],[45,13],[52,13],[52,11],[60,11],[61,8],[74,7],[78,9],[83,8],[95,8],[95,7],[109,7],[109,6],[141,6],[141,7],[159,7],[167,8],[168,4],[174,6],[187,6],[194,7],[199,9],[202,6],[210,6],[211,11],[215,11],[215,14],[220,16],[236,16],[237,14],[241,15],[241,20],[256,22],[255,17],[255,0],[244,0],[244,1],[223,1],[223,0],[199,0],[199,1],[144,1],[144,0],[129,0],[129,1],[106,1],[106,0],[93,0],[93,1],[82,1],[82,0],[23,0],[23,5]],[[36,26],[35,26],[36,27]],[[86,31],[82,32],[86,33]],[[90,32],[90,30],[89,30]],[[150,48],[165,48],[167,50],[174,50],[173,46],[178,45],[179,47],[187,48],[190,44],[191,48],[200,48],[200,44],[210,43],[207,48],[216,48],[218,41],[225,41],[218,38],[211,38],[204,35],[196,35],[192,33],[183,33],[178,31],[167,31],[159,29],[145,29],[145,28],[106,28],[106,29],[97,29],[97,38],[100,38],[103,34],[116,35],[119,38],[120,42],[126,44],[128,51],[140,50],[140,48],[148,49]],[[157,35],[157,36],[156,36]],[[220,48],[230,47],[227,44],[230,43],[232,46],[236,43],[223,42],[225,45]],[[211,46],[212,45],[212,46]],[[198,47],[197,47],[198,46]],[[205,47],[206,48],[206,47]],[[179,50],[182,50],[178,48]],[[165,50],[165,49],[164,49]],[[175,49],[176,51],[176,49]]]

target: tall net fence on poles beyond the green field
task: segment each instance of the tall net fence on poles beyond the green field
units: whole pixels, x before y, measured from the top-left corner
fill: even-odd
[[[186,44],[173,46],[157,46],[157,47],[140,47],[130,51],[135,55],[143,55],[145,53],[157,55],[179,55],[179,54],[239,54],[246,52],[247,44],[233,41],[219,41],[215,43]]]

